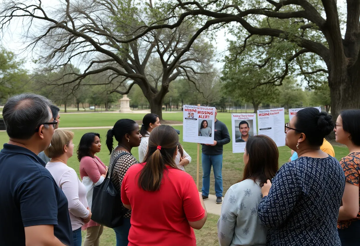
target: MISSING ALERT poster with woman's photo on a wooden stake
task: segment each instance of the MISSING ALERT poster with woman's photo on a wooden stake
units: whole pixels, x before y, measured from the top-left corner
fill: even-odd
[[[184,105],[183,141],[199,144],[214,143],[215,108]]]

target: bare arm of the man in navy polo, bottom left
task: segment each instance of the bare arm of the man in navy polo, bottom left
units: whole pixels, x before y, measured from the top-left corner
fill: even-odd
[[[26,246],[66,246],[54,236],[54,225],[29,226],[24,231]]]

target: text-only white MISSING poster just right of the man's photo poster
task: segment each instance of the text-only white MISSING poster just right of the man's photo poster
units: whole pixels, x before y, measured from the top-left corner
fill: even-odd
[[[284,108],[257,110],[258,134],[273,139],[276,146],[285,146]]]

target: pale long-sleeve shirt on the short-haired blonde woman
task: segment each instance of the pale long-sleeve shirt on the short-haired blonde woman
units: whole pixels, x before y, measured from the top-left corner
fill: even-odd
[[[72,230],[75,231],[85,223],[82,218],[89,216],[87,210],[86,188],[77,177],[75,170],[62,162],[48,162],[46,169],[68,199],[69,215]]]

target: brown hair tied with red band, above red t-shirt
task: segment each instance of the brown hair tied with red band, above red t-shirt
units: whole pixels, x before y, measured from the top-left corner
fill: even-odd
[[[178,144],[179,135],[171,126],[159,126],[151,132],[148,152],[144,159],[145,166],[140,171],[139,187],[145,191],[160,189],[166,165],[177,168],[174,154]]]

